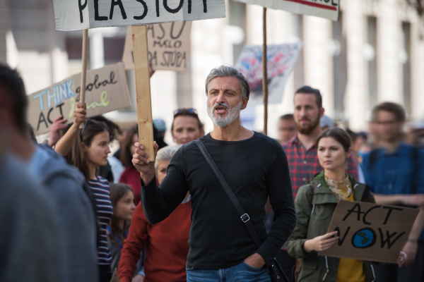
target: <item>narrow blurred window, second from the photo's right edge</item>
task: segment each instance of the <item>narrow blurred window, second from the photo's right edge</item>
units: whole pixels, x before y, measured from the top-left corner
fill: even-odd
[[[367,18],[367,43],[365,44],[365,60],[368,65],[368,108],[377,104],[377,18]]]

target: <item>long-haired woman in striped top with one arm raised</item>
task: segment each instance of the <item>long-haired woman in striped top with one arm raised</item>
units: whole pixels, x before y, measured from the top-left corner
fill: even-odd
[[[81,124],[83,129],[80,129]],[[100,223],[100,234],[98,234],[100,282],[110,282],[112,278],[110,270],[112,255],[107,245],[107,224],[112,219],[113,208],[109,181],[98,176],[98,168],[107,164],[107,155],[110,153],[109,130],[106,123],[87,118],[85,106],[78,103],[73,112],[73,125],[54,147],[56,152],[66,156],[69,163],[83,173],[93,192]]]

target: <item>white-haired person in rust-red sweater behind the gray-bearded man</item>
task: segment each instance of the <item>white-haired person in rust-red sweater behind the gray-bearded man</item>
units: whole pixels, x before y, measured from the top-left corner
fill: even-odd
[[[155,170],[159,183],[165,178],[167,166],[178,149],[179,146],[172,146],[158,151]],[[191,214],[192,207],[188,193],[182,204],[179,204],[165,221],[155,225],[148,222],[141,203],[138,204],[119,260],[119,281],[131,282],[143,279],[144,282],[186,281],[185,264],[189,252]],[[146,278],[137,274],[133,280],[136,263],[144,247],[146,247],[144,262]]]

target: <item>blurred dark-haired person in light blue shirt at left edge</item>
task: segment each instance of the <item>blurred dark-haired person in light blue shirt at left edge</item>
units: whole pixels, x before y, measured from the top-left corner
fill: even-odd
[[[9,149],[23,161],[35,182],[41,183],[58,219],[61,250],[61,258],[57,259],[61,274],[58,281],[95,281],[98,278],[96,221],[93,204],[84,190],[83,176],[66,164],[63,157],[30,139],[25,122],[28,101],[23,80],[4,65],[0,65],[0,92],[3,122],[9,125]],[[38,236],[36,233],[33,235]]]

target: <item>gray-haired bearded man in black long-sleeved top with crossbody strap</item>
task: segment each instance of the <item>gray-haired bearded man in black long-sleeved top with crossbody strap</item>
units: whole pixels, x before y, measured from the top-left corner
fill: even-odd
[[[172,158],[158,187],[155,164],[136,143],[133,164],[141,173],[141,202],[146,218],[159,223],[192,195],[192,228],[187,255],[187,281],[269,282],[269,266],[296,223],[287,157],[276,141],[240,125],[240,111],[249,101],[249,85],[231,66],[214,68],[206,79],[208,115],[213,131],[189,142]],[[206,161],[204,146],[246,214],[240,217],[218,176]],[[155,145],[155,152],[158,146]],[[205,156],[207,156],[205,154]],[[274,223],[266,233],[269,197]],[[260,240],[257,247],[247,230]]]

